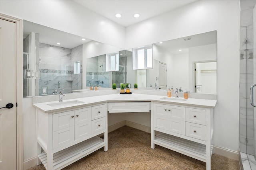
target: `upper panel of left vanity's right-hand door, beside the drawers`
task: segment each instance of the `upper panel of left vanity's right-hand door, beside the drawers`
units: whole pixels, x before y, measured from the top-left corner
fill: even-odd
[[[74,113],[75,125],[85,123],[92,120],[92,108],[87,107],[83,109],[77,109]]]

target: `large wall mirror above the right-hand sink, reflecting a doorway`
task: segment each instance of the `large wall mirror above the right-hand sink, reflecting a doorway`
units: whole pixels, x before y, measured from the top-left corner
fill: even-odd
[[[142,89],[217,93],[217,31],[153,44],[153,69],[137,76]]]

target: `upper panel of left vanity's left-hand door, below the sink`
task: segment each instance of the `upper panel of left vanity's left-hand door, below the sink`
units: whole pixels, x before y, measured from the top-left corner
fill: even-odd
[[[74,111],[65,111],[52,115],[52,129],[58,131],[70,126],[74,126]]]

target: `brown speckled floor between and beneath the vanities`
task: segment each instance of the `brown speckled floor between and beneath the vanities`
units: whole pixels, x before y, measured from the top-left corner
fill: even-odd
[[[74,162],[64,170],[205,170],[206,163],[156,145],[150,134],[124,126],[108,133],[108,151],[103,148]],[[41,164],[29,170],[45,170]],[[236,160],[212,155],[212,170],[239,170]]]

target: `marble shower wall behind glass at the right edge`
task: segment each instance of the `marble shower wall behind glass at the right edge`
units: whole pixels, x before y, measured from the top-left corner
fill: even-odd
[[[241,11],[241,18],[252,16],[250,12],[253,10]],[[250,86],[254,84],[253,18],[248,21],[240,27],[240,152],[254,155],[254,107],[250,104]]]

